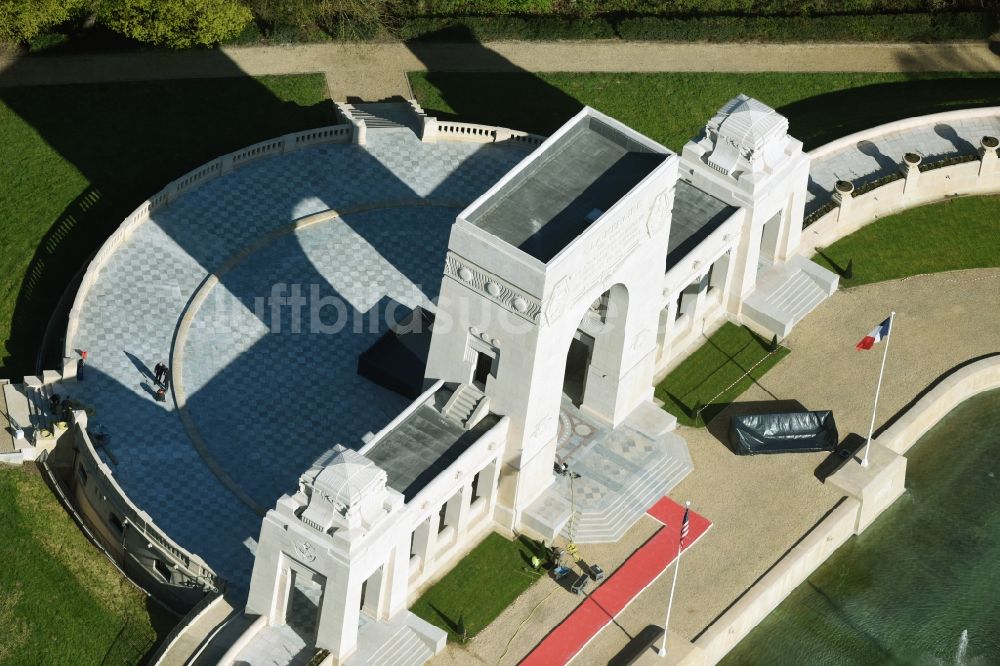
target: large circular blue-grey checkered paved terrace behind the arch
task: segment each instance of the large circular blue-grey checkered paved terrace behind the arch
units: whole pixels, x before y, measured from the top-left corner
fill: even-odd
[[[387,317],[433,308],[456,214],[529,150],[393,129],[264,158],[157,210],[101,268],[69,341],[89,355],[72,397],[129,497],[237,598],[260,514],[406,404],[358,376],[358,354]]]

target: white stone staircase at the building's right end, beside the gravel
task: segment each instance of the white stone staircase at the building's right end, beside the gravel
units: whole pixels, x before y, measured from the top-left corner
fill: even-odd
[[[795,324],[837,290],[840,278],[805,257],[771,266],[743,302],[743,317],[757,328],[784,338]]]

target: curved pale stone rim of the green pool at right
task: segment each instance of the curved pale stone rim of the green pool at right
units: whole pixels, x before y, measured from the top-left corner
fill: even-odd
[[[906,453],[960,403],[997,388],[1000,388],[1000,354],[970,363],[945,377],[875,441],[896,453]]]

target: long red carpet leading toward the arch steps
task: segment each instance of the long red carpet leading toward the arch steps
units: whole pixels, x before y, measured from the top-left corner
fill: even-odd
[[[558,627],[542,639],[521,662],[523,666],[552,666],[569,663],[611,620],[640,592],[663,573],[677,557],[684,507],[664,497],[647,512],[663,523],[663,527],[632,553],[617,571],[601,583],[593,594],[576,607]],[[712,523],[691,512],[688,538],[684,550],[690,548]],[[667,600],[663,599],[666,612]],[[662,621],[662,619],[660,620]]]

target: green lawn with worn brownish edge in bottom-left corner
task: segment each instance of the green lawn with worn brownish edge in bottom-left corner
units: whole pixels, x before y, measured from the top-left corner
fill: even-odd
[[[0,664],[138,663],[156,641],[146,596],[27,468],[0,465],[0,506]]]

